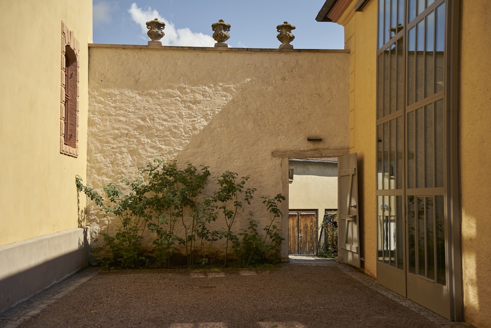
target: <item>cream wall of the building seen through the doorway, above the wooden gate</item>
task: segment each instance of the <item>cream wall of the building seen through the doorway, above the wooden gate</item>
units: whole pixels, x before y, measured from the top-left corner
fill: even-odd
[[[317,209],[318,225],[326,209],[337,209],[337,163],[290,161],[290,209]]]

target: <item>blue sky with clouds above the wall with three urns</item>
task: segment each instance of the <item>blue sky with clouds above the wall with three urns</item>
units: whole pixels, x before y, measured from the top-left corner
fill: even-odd
[[[93,42],[146,45],[145,22],[166,24],[162,44],[213,47],[211,25],[223,19],[231,25],[230,47],[273,48],[276,26],[284,21],[293,30],[295,49],[343,49],[344,29],[317,22],[325,0],[93,0]]]

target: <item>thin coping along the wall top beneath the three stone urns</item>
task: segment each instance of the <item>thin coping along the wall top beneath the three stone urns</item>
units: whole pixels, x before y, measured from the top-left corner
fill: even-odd
[[[89,48],[108,49],[148,49],[148,50],[191,50],[218,52],[270,52],[270,53],[350,53],[345,49],[267,49],[267,48],[215,48],[215,47],[175,47],[175,46],[145,46],[127,44],[89,43]]]

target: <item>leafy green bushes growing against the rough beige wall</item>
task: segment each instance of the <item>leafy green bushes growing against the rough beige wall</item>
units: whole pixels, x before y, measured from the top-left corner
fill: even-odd
[[[196,263],[207,264],[211,245],[219,239],[225,239],[225,266],[229,243],[243,267],[279,260],[283,238],[276,220],[282,215],[278,204],[285,200],[281,194],[274,198],[262,197],[270,213],[270,224],[264,227],[263,237],[253,220],[249,220],[247,229],[236,234],[234,225],[244,218],[246,206],[251,204],[256,191],[246,188],[249,177],[238,178],[237,173],[226,171],[214,180],[217,191],[206,196],[202,191],[210,172],[205,166],[196,168],[187,163],[181,169],[176,162],[164,163],[156,159],[138,171],[143,178],[121,179],[122,187],[114,182],[104,186],[104,197],[76,177],[77,191],[84,192],[108,215],[108,225],[101,233],[105,244],[96,254],[104,267],[146,266],[149,253],[157,266],[169,267],[177,248],[185,251],[189,267]],[[217,230],[210,229],[210,224],[219,217],[223,218],[224,225]],[[120,224],[112,232],[109,226],[114,218]],[[142,249],[145,231],[153,236],[152,249],[146,250],[147,253]]]

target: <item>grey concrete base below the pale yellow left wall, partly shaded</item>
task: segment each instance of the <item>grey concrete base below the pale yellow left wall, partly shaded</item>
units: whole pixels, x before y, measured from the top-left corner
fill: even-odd
[[[0,247],[0,313],[87,267],[88,228]]]

